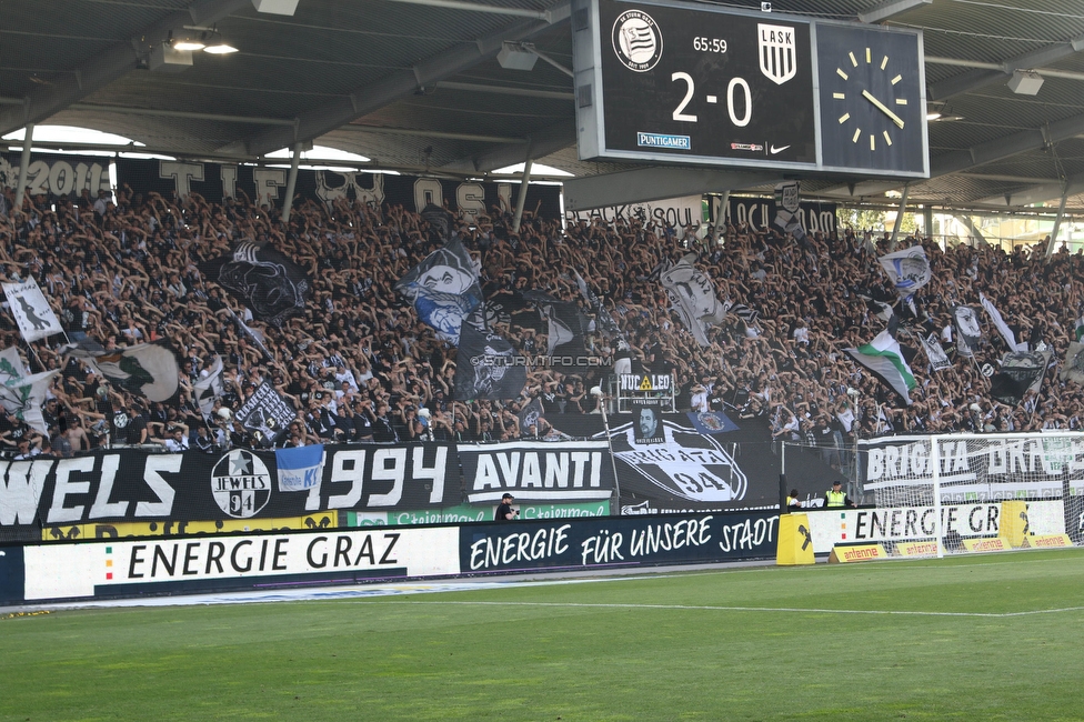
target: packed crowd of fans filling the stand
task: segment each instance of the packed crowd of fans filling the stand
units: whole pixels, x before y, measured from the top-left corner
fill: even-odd
[[[10,209],[13,192],[4,192]],[[99,199],[28,198],[22,209],[0,215],[0,280],[34,277],[69,337],[86,334],[107,349],[167,339],[181,367],[175,399],[149,403],[59,354],[60,337],[28,345],[10,314],[0,314],[0,347],[20,347],[32,371],[62,370],[43,410],[50,433],[4,414],[0,448],[29,457],[110,443],[204,451],[248,444],[231,410],[264,381],[297,410],[280,441],[287,445],[514,439],[522,433],[518,413],[534,398],[544,414],[532,434],[560,430],[559,414],[599,411],[601,401],[590,389],[605,385],[610,368],[534,368],[519,399],[452,399],[455,349],[439,341],[393,290],[445,240],[418,213],[347,199],[331,205],[310,200],[282,223],[279,211],[240,195],[221,204],[195,194],[168,200],[126,185]],[[629,347],[619,352],[616,339],[591,333],[591,352],[631,353],[634,371],[672,373],[680,410],[760,418],[777,439],[829,445],[845,444],[852,434],[1081,428],[1082,389],[1056,373],[1084,301],[1081,254],[1062,250],[1046,262],[1026,248],[943,251],[930,241],[902,241],[922,242],[933,281],[915,294],[913,310],[897,304],[900,338],[917,345],[920,333],[941,335],[952,367],[933,371],[920,353],[913,403],[897,407],[843,352],[884,328],[867,299],[895,299],[876,261],[887,250],[886,238],[873,242],[869,233],[846,230],[795,240],[733,225],[716,235],[635,220],[562,225],[528,211],[515,233],[511,214],[492,209],[455,220],[451,233],[479,261],[486,298],[542,290],[580,303],[590,317],[575,281],[582,274]],[[242,240],[270,242],[305,269],[313,292],[303,315],[265,327],[204,282],[199,264]],[[682,327],[658,280],[663,261],[690,252],[699,253],[696,264],[713,279],[720,299],[759,314],[752,323],[727,315],[710,329],[707,347]],[[980,371],[984,363],[996,365],[1006,350],[1000,337],[985,333],[968,358],[954,353],[946,330],[951,307],[977,304],[980,292],[1016,327],[1017,338],[1054,352],[1040,393],[1014,408],[990,398],[990,380]],[[239,319],[262,333],[263,348]],[[530,304],[495,325],[522,353],[544,352],[548,327]],[[215,354],[227,369],[225,393],[205,420],[193,403],[192,384]]]

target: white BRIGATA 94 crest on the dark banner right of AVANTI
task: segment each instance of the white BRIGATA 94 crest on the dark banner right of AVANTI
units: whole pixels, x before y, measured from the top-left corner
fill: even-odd
[[[636,441],[634,424],[611,431],[614,457],[628,469],[669,494],[689,501],[719,503],[740,501],[749,480],[719,441],[671,421],[662,421],[662,443]]]

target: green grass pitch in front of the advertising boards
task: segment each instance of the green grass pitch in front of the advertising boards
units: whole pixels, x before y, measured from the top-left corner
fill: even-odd
[[[1084,550],[0,621],[2,720],[1080,720]]]

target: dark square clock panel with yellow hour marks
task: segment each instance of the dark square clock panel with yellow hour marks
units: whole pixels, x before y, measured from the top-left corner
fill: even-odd
[[[926,176],[919,37],[823,26],[817,61],[823,164]]]

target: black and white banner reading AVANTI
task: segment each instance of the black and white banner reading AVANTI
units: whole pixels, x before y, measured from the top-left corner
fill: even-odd
[[[470,503],[505,493],[525,501],[585,501],[613,493],[610,447],[601,441],[514,441],[459,444]]]

